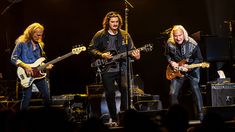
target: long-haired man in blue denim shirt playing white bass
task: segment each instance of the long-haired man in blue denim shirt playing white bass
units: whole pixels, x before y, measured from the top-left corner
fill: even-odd
[[[40,23],[32,23],[25,29],[23,34],[16,39],[16,45],[11,55],[11,62],[16,65],[17,68],[24,70],[21,75],[18,75],[19,78],[27,80],[26,78],[34,77],[38,74],[35,72],[35,68],[32,67],[32,65],[40,58],[45,57],[45,52],[43,51],[43,33],[44,27]],[[52,67],[53,65],[49,64],[46,69],[51,69]],[[26,76],[23,76],[24,73]],[[44,105],[48,106],[50,104],[50,93],[46,78],[42,77],[34,80],[32,83],[34,83],[42,93]],[[32,84],[28,85],[25,83],[25,85],[26,86],[22,87],[20,110],[26,110],[28,108],[32,96]]]

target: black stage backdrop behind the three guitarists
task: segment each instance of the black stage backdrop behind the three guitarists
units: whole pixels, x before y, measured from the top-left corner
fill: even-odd
[[[167,36],[161,33],[173,25],[181,24],[189,34],[198,32],[201,38],[234,36],[234,32],[230,34],[228,24],[224,21],[235,19],[235,1],[129,0],[129,2],[134,8],[128,6],[128,31],[136,47],[148,43],[154,45],[152,52],[143,52],[141,60],[134,62],[134,73],[144,82],[145,93],[160,95],[163,106],[167,107],[169,81],[165,79],[167,62],[164,58],[164,42]],[[15,39],[29,24],[39,22],[45,27],[45,51],[48,60],[52,60],[70,52],[75,45],[83,44],[87,47],[96,31],[102,28],[103,17],[109,11],[119,12],[124,19],[125,1],[0,0],[2,80],[16,79],[16,68],[10,63],[10,55],[15,46]],[[198,42],[207,61],[205,41],[199,39]],[[210,52],[213,52],[213,44],[211,47]],[[216,61],[217,58],[214,58],[211,63]],[[213,74],[213,71],[202,69],[201,85],[215,79]],[[228,76],[231,76],[231,72],[228,72]],[[56,63],[50,71],[49,78],[52,95],[85,93],[86,85],[95,81],[95,72],[90,68],[88,54],[81,52]]]

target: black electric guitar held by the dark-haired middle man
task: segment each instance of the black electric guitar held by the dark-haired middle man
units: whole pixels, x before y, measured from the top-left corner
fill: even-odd
[[[153,45],[152,44],[146,44],[143,47],[138,48],[140,51],[152,51]],[[136,50],[136,49],[134,49]],[[128,51],[128,55],[130,55],[133,52],[133,50]],[[99,67],[102,72],[107,70],[109,67],[111,67],[117,60],[123,59],[127,56],[126,52],[116,54],[112,53],[113,57],[111,59],[97,59],[94,62],[91,63],[91,67]]]

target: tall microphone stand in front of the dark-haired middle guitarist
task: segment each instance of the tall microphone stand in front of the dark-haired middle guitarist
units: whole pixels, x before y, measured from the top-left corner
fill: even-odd
[[[130,86],[130,80],[132,79],[131,74],[131,70],[130,70],[130,60],[129,60],[129,56],[128,56],[128,5],[132,8],[134,8],[131,3],[129,3],[127,0],[125,0],[125,44],[126,44],[126,62],[127,62],[127,109],[133,109],[134,105],[133,105],[133,89]]]

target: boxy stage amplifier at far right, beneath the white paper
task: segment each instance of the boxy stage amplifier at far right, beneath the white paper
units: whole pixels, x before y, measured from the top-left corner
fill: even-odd
[[[211,106],[235,104],[235,83],[210,84],[208,90]]]

